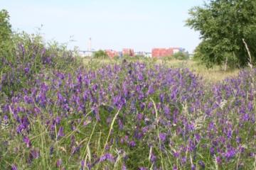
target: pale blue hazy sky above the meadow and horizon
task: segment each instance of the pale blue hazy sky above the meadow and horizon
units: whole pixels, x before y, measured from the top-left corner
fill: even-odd
[[[193,52],[199,33],[185,26],[188,9],[203,0],[0,0],[15,31],[40,32],[46,41],[87,50],[151,52],[154,47],[183,47]],[[40,28],[40,29],[39,29]]]

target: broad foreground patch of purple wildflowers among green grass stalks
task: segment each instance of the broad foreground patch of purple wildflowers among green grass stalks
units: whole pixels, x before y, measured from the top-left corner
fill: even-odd
[[[111,153],[99,157],[93,150],[95,155],[87,162],[90,168],[105,160],[114,164],[113,150],[122,150],[123,169],[148,169],[151,164],[161,169],[163,159],[170,169],[204,169],[215,162],[233,167],[238,157],[246,169],[246,162],[254,160],[249,155],[256,153],[255,94],[248,75],[244,71],[237,78],[206,86],[188,69],[139,62],[69,74],[54,71],[38,75],[35,86],[5,103],[3,118],[13,118],[14,137],[22,137],[33,159],[41,157],[41,151],[33,149],[38,147],[33,140],[40,138],[33,138],[38,120],[46,130],[50,154],[62,148],[68,160],[80,166],[78,155],[87,149],[84,139],[89,139],[93,125],[97,123],[95,131],[105,139],[119,111],[105,148]],[[95,134],[92,139],[99,136]],[[99,147],[97,142],[89,144]],[[154,152],[149,153],[151,149]],[[64,166],[64,159],[55,160],[56,166]],[[150,166],[144,168],[144,162]]]

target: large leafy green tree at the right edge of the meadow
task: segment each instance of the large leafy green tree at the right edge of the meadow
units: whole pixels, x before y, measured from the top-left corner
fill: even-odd
[[[189,11],[191,18],[186,26],[201,33],[202,42],[195,51],[207,67],[229,64],[244,67],[247,52],[242,39],[247,42],[252,55],[256,55],[256,1],[210,0]],[[255,58],[254,58],[255,62]]]

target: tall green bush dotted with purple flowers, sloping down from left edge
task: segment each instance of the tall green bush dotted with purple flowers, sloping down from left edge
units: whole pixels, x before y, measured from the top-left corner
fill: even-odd
[[[65,45],[46,45],[41,35],[15,33],[9,42],[8,55],[0,56],[0,90],[10,97],[32,86],[36,74],[45,74],[48,69],[67,72],[82,63]]]

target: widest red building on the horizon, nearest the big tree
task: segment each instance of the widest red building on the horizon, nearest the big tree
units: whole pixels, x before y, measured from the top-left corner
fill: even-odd
[[[170,57],[174,55],[174,53],[181,51],[181,48],[178,47],[170,47],[170,48],[153,48],[152,49],[152,57]]]

